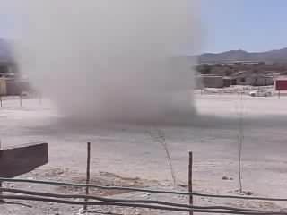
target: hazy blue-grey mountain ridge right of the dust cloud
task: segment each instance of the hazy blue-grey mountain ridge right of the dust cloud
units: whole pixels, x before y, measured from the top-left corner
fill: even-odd
[[[266,52],[247,52],[244,50],[230,50],[222,53],[204,53],[198,56],[200,63],[224,63],[234,61],[265,61],[265,62],[286,62],[287,48]]]

